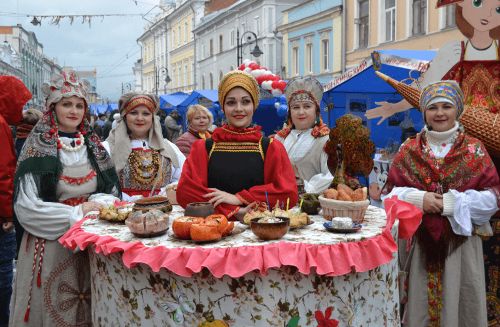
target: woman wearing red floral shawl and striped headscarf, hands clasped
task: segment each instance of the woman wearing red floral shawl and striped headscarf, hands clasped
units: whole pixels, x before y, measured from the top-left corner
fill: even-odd
[[[425,87],[420,108],[426,125],[401,146],[386,184],[387,197],[424,212],[408,259],[405,326],[487,326],[477,234],[498,210],[498,174],[483,144],[458,123],[464,105],[455,81]]]

